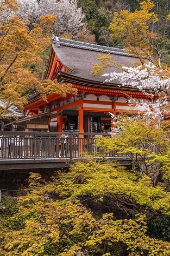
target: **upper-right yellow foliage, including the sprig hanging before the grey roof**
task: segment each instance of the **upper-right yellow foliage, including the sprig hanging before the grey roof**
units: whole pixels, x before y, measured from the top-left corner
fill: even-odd
[[[151,32],[151,26],[158,21],[157,14],[151,12],[153,8],[154,3],[147,0],[140,2],[140,10],[135,10],[133,13],[128,10],[121,10],[120,14],[113,13],[113,22],[109,26],[112,31],[110,36],[114,40],[123,40],[125,49],[139,58],[135,66],[144,64],[146,59],[159,66],[160,54],[155,44],[157,34]],[[155,55],[157,55],[157,60]],[[98,54],[97,60],[98,63],[93,63],[92,74],[94,75],[102,74],[107,67],[119,69],[122,67],[121,63],[116,63],[109,54],[103,56]]]

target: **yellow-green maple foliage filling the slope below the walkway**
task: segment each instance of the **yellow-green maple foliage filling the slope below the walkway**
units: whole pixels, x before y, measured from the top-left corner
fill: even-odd
[[[25,195],[17,198],[17,209],[0,221],[0,255],[81,256],[93,252],[91,255],[95,256],[102,255],[106,242],[105,255],[113,255],[119,245],[126,245],[131,256],[169,255],[170,243],[150,238],[146,233],[146,214],[154,213],[153,210],[166,211],[168,192],[164,194],[163,189],[153,188],[149,178],[143,178],[138,180],[119,163],[93,159],[74,164],[70,173],[60,173],[51,182],[44,182],[39,174],[31,174]],[[64,190],[69,192],[65,198]],[[90,197],[96,200],[103,193],[105,202],[108,197],[112,198],[111,203],[116,202],[112,196],[115,195],[120,200],[119,207],[125,207],[123,201],[131,202],[139,213],[135,215],[137,209],[133,209],[128,219],[116,220],[113,213],[97,218],[74,198],[77,196],[83,202],[82,195],[88,195],[88,200]],[[57,200],[51,195],[57,195]],[[141,202],[136,201],[139,197]],[[143,207],[144,201],[147,208]],[[125,210],[130,213],[130,206]]]

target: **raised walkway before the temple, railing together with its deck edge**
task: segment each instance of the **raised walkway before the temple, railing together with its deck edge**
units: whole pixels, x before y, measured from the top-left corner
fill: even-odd
[[[62,136],[67,135],[67,138]],[[87,155],[95,158],[120,159],[129,162],[126,154],[96,147],[97,136],[107,133],[1,132],[0,169],[62,167]]]

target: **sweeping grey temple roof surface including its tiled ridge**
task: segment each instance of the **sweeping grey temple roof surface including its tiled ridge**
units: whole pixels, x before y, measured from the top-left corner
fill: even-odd
[[[112,60],[118,64],[122,64],[123,66],[132,66],[139,61],[138,58],[132,56],[131,54],[127,54],[126,50],[123,49],[82,43],[63,38],[58,39],[60,42],[60,47],[57,47],[56,44],[53,44],[52,47],[59,60],[73,71],[71,73],[72,76],[82,79],[99,82],[105,81],[106,78],[102,77],[102,75],[94,76],[91,74],[93,71],[92,63],[99,63],[97,60],[98,54],[105,55],[106,53],[110,53]],[[114,71],[118,73],[122,72],[121,67],[107,67],[104,70],[104,73],[109,74]],[[119,84],[119,82],[116,80],[113,81],[113,83]]]

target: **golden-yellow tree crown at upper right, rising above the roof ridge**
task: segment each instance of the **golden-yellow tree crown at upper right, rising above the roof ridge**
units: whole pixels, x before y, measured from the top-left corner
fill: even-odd
[[[157,34],[151,32],[150,27],[158,19],[157,14],[151,12],[153,8],[154,3],[147,0],[140,2],[139,11],[131,13],[128,10],[121,10],[120,14],[114,12],[113,22],[109,27],[113,32],[111,37],[115,40],[121,38],[128,49],[139,57],[142,64],[145,58],[152,61],[155,50],[153,42],[157,39]]]

